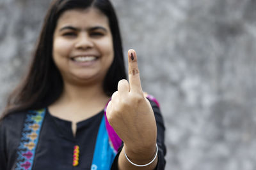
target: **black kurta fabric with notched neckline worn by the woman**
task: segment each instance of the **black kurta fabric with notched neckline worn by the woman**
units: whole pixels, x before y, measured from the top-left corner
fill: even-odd
[[[157,122],[158,164],[156,169],[164,169],[166,148],[164,145],[163,117],[156,103],[150,101]],[[14,169],[17,148],[20,145],[21,132],[27,112],[13,113],[0,122],[0,169]],[[36,146],[32,169],[35,170],[70,170],[91,169],[93,152],[99,125],[104,115],[97,115],[77,123],[76,137],[72,134],[71,122],[52,116],[46,110],[44,122]],[[79,165],[72,166],[74,146],[79,145]],[[122,146],[120,147],[121,150]],[[117,158],[112,169],[117,167]]]

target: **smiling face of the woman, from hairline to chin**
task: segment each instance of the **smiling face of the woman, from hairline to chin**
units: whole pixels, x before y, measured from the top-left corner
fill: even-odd
[[[114,58],[108,17],[95,8],[67,10],[58,19],[52,56],[69,83],[102,83]]]

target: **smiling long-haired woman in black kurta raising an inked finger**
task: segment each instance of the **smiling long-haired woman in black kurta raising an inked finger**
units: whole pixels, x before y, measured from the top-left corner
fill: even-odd
[[[1,118],[0,169],[164,169],[159,104],[128,58],[129,82],[108,0],[53,1]]]

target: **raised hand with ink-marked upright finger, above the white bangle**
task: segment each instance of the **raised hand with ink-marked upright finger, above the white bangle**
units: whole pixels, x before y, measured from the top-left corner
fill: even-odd
[[[156,120],[149,101],[143,95],[134,50],[128,51],[128,61],[129,82],[119,81],[118,91],[108,104],[107,117],[109,124],[124,141],[128,156],[141,153],[151,157],[156,149]]]

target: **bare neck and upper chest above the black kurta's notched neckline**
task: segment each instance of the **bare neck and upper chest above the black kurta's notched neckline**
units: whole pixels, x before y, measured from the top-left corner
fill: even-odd
[[[63,93],[49,110],[55,117],[72,122],[72,132],[76,134],[76,124],[102,111],[108,103],[102,85],[74,85],[64,83]]]

